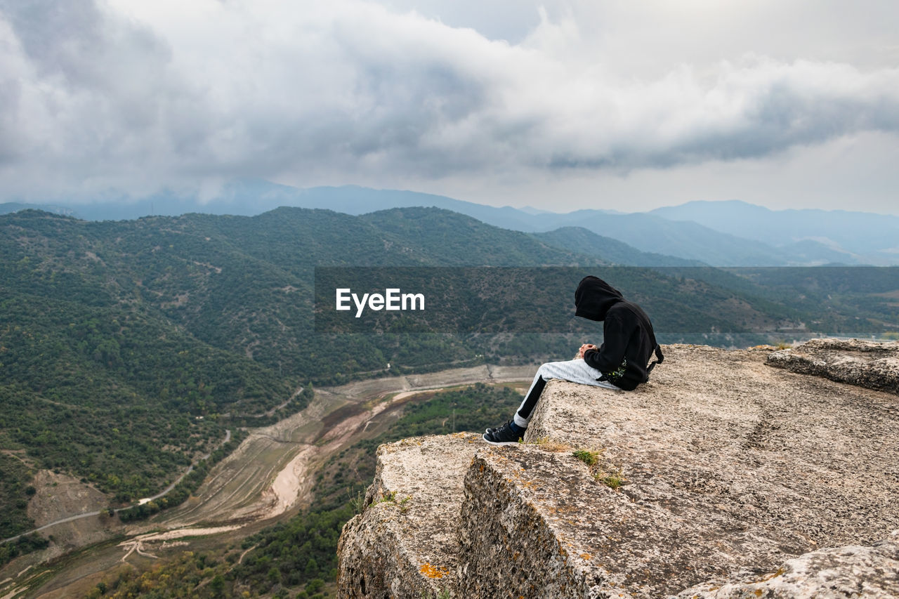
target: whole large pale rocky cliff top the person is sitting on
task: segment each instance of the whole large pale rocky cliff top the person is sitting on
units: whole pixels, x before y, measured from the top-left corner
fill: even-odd
[[[899,398],[770,368],[771,353],[672,345],[635,391],[549,381],[524,444],[382,448],[369,498],[417,499],[423,468],[446,496],[348,523],[338,596],[895,595]],[[364,568],[384,591],[360,592]]]

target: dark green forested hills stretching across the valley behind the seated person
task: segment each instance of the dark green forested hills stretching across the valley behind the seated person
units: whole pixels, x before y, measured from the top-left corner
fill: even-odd
[[[550,237],[554,245],[544,242]],[[859,287],[847,283],[855,274],[816,269],[797,278],[624,268],[610,265],[601,246],[575,251],[577,241],[571,231],[534,237],[423,208],[103,222],[35,210],[0,216],[0,507],[8,514],[0,537],[29,528],[23,479],[34,469],[66,471],[127,502],[164,487],[227,428],[296,411],[307,395],[295,392],[309,382],[567,357],[577,344],[571,335],[493,335],[491,325],[510,314],[573,320],[583,273],[643,305],[663,343],[896,328],[896,269],[866,272]],[[547,303],[536,291],[488,290],[494,322],[474,335],[312,330],[316,266],[547,265],[582,270],[553,271],[536,284],[553,298]],[[598,326],[578,326],[572,335],[598,341]]]

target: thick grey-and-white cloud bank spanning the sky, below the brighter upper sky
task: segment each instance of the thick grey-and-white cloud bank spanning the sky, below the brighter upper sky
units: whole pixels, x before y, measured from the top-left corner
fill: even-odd
[[[554,50],[570,23],[510,45],[362,2],[151,5],[0,2],[7,190],[628,171],[899,129],[891,68],[746,58],[641,80]]]

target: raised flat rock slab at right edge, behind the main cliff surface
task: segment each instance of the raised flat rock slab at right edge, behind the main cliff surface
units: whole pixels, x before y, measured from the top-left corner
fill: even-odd
[[[899,394],[899,342],[812,339],[771,353],[768,364]]]

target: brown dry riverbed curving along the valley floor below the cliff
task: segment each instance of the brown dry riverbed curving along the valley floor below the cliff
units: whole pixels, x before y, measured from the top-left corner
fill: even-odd
[[[316,389],[302,411],[254,429],[184,504],[129,526],[102,516],[60,525],[76,526],[77,533],[52,555],[31,554],[0,570],[0,599],[26,596],[28,589],[27,596],[47,599],[77,596],[123,560],[144,567],[175,547],[242,538],[308,505],[318,465],[416,394],[475,382],[530,380],[534,371],[533,366],[480,366]],[[64,531],[49,532],[57,537]],[[78,543],[80,538],[88,542]],[[66,552],[69,557],[53,566],[43,563]]]

